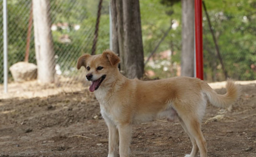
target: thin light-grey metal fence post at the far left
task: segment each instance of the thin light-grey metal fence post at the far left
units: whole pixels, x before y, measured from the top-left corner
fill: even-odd
[[[7,93],[8,84],[7,0],[3,0],[3,85]]]

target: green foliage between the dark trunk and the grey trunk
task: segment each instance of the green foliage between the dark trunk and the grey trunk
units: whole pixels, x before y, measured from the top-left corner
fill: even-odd
[[[173,70],[173,63],[180,62],[181,50],[181,3],[178,0],[175,3],[169,3],[168,0],[142,0],[140,1],[140,13],[142,21],[142,38],[144,46],[144,55],[148,56],[156,47],[157,43],[164,36],[164,33],[171,26],[172,21],[176,20],[179,26],[176,29],[171,29],[168,36],[157,48],[157,52],[165,50],[172,50],[173,54],[171,65],[162,65],[161,62],[156,61],[158,66],[150,66],[147,64],[145,70],[154,71],[156,74],[153,77],[167,78],[175,76],[176,72]],[[156,52],[156,53],[157,53]],[[163,62],[165,62],[163,60]],[[168,67],[168,71],[163,68]]]

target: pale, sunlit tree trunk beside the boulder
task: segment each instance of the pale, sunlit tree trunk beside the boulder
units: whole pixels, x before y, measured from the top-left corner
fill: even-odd
[[[42,83],[54,82],[55,60],[50,29],[49,0],[33,0],[33,20],[37,79]]]

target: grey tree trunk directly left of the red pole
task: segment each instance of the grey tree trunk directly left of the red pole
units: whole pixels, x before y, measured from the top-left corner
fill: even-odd
[[[194,76],[194,0],[182,0],[181,75]]]

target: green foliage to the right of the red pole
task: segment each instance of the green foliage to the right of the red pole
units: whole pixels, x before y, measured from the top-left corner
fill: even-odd
[[[255,5],[252,0],[206,1],[225,68],[228,76],[234,79],[256,79],[256,69],[251,68],[256,65]],[[216,51],[206,17],[203,25],[205,71],[211,71],[212,78],[217,75],[217,80],[223,80],[219,60],[213,55]],[[209,64],[213,59],[215,67]]]

